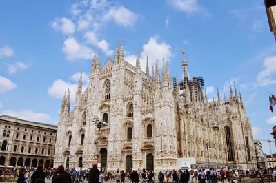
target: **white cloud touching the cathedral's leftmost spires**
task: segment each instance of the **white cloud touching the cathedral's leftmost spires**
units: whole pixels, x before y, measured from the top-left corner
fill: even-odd
[[[75,102],[75,94],[77,92],[78,84],[72,84],[62,79],[54,81],[52,86],[48,87],[48,94],[56,99],[63,99],[64,92],[70,90],[70,102]]]

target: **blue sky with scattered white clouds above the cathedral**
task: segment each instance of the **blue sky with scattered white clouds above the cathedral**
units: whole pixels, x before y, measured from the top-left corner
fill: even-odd
[[[56,124],[81,71],[87,85],[94,51],[103,65],[124,39],[127,61],[139,48],[143,69],[146,56],[150,66],[164,57],[172,76],[182,76],[185,49],[188,73],[204,77],[210,99],[217,86],[228,97],[235,81],[253,136],[273,139],[276,43],[263,0],[0,1],[0,22],[0,114]]]

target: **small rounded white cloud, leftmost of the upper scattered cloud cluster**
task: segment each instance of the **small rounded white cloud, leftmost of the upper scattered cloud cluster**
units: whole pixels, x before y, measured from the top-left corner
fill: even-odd
[[[52,28],[62,32],[64,35],[71,35],[75,32],[75,24],[66,17],[55,19],[52,22]]]

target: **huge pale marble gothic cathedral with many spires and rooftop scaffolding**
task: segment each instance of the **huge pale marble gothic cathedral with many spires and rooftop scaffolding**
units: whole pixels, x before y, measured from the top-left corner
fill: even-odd
[[[164,61],[163,61],[164,62]],[[116,46],[114,61],[100,68],[99,53],[92,59],[88,87],[82,78],[70,110],[69,91],[59,115],[55,166],[89,168],[99,155],[107,170],[177,167],[177,159],[195,157],[198,167],[256,166],[253,135],[242,96],[234,84],[230,97],[209,101],[201,77],[188,78],[183,52],[184,78],[178,83],[156,62],[150,75],[124,59],[124,44]],[[92,121],[108,123],[98,131]],[[98,160],[98,159],[97,159]]]

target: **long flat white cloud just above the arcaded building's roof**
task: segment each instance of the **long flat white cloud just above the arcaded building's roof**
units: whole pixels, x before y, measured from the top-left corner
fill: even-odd
[[[32,122],[43,122],[49,123],[52,122],[50,115],[46,113],[36,113],[32,110],[4,110],[1,115],[10,115],[14,117],[19,117],[20,119],[29,120]]]

